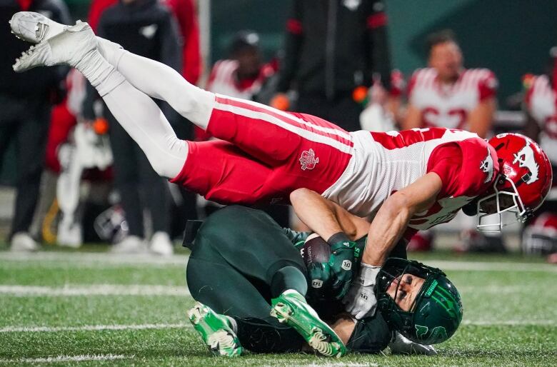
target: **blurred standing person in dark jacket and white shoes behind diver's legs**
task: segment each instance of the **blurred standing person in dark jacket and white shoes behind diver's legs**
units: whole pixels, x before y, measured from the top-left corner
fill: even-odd
[[[123,0],[101,12],[97,34],[119,42],[135,52],[156,59],[181,71],[180,36],[171,11],[156,0]],[[94,120],[91,109],[94,89],[84,109],[84,116]],[[161,106],[169,119],[176,116],[168,105]],[[109,136],[114,154],[114,186],[124,208],[129,235],[116,243],[112,251],[136,253],[146,251],[144,209],[151,214],[152,236],[149,249],[161,255],[173,252],[169,236],[169,189],[151,168],[139,146],[116,122],[108,110]]]

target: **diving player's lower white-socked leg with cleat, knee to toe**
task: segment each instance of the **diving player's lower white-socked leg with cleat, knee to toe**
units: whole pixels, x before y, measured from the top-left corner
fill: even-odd
[[[13,23],[12,23],[13,28]],[[96,49],[96,36],[86,23],[31,46],[14,70],[66,64],[84,74],[126,132],[139,144],[160,176],[174,177],[186,161],[187,144],[176,138],[169,121],[146,94],[131,86]]]

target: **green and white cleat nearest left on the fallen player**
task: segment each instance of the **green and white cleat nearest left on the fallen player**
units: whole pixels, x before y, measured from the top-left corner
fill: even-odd
[[[219,315],[201,302],[188,311],[189,321],[215,356],[240,356],[242,347],[228,318]]]

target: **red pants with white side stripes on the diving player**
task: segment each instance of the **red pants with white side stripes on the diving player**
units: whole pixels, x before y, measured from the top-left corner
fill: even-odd
[[[216,95],[207,127],[215,141],[189,141],[171,182],[219,203],[288,203],[296,188],[323,193],[348,166],[350,134],[316,116]]]

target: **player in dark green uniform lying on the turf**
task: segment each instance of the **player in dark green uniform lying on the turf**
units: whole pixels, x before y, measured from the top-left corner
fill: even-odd
[[[351,239],[363,249],[369,223],[345,214],[345,231],[353,232]],[[446,276],[416,261],[394,258],[386,261],[378,277],[381,312],[353,320],[334,296],[318,293],[327,281],[308,291],[308,280],[311,286],[317,283],[313,266],[321,264],[306,267],[293,246],[303,246],[303,234],[244,206],[227,206],[199,228],[186,270],[198,303],[188,315],[216,355],[236,356],[242,348],[292,353],[303,350],[304,341],[326,356],[341,356],[344,345],[361,353],[379,353],[389,345],[393,353],[431,355],[435,350],[421,344],[446,341],[458,328],[461,300]],[[311,306],[305,301],[306,291]],[[390,343],[396,331],[402,336],[396,333],[396,342]],[[315,340],[321,334],[331,340]]]

